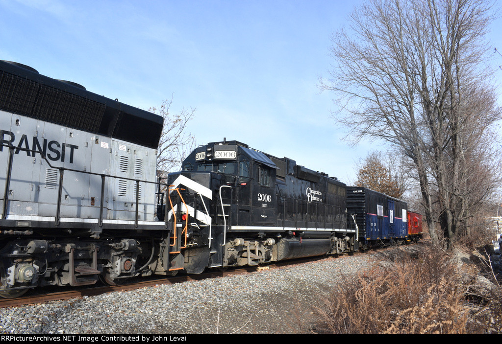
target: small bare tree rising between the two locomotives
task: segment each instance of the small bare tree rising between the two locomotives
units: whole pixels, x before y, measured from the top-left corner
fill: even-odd
[[[148,111],[164,118],[164,128],[157,150],[157,176],[165,178],[174,168],[179,168],[181,162],[193,150],[195,138],[187,133],[187,124],[193,119],[195,109],[182,109],[179,114],[171,114],[169,108],[173,99],[164,101],[159,107]]]

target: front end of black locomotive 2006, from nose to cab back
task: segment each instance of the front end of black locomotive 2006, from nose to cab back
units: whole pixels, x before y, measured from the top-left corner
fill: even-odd
[[[168,221],[179,217],[180,209],[193,219],[186,230],[181,226],[173,229],[181,236],[183,232],[189,234],[190,238],[179,247],[182,257],[171,263],[171,269],[200,273],[206,267],[269,262],[272,247],[265,246],[275,243],[268,238],[276,233],[265,234],[261,229],[271,226],[274,231],[281,231],[273,227],[277,213],[276,169],[264,153],[236,141],[210,143],[192,152],[183,162],[183,170],[168,176],[168,184],[172,185],[169,198],[173,202]],[[256,228],[249,230],[251,226]],[[244,235],[241,237],[240,233]],[[242,264],[235,256],[229,258],[225,245],[233,247],[230,242],[245,245]],[[249,249],[253,253],[247,253]]]

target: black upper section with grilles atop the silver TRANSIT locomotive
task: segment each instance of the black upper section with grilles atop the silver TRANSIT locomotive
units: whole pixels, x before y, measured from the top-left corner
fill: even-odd
[[[31,67],[0,61],[0,110],[157,149],[164,119]]]

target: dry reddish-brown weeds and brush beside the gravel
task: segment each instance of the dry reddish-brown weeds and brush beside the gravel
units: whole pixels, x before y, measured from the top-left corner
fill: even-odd
[[[424,246],[426,247],[426,246]],[[475,270],[428,246],[374,264],[317,309],[318,333],[483,333],[488,312],[468,307]]]

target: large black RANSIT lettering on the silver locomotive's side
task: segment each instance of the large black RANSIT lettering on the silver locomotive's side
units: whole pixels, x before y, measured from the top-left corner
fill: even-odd
[[[6,138],[6,135],[9,136],[9,138]],[[74,157],[74,150],[78,149],[78,146],[76,145],[71,145],[64,142],[59,143],[58,141],[54,140],[48,142],[47,139],[43,139],[42,144],[40,144],[40,141],[36,136],[33,136],[32,146],[30,148],[28,136],[26,134],[23,134],[21,136],[21,139],[19,140],[17,145],[13,144],[15,140],[16,140],[16,135],[13,132],[7,130],[0,130],[0,152],[2,152],[4,149],[3,145],[7,144],[11,147],[17,147],[14,154],[19,154],[21,151],[25,151],[27,156],[35,157],[37,153],[38,154],[42,153],[49,160],[65,162],[65,157],[67,152],[66,148],[68,148],[70,153],[69,163],[72,164]],[[47,149],[53,154],[47,153]]]

